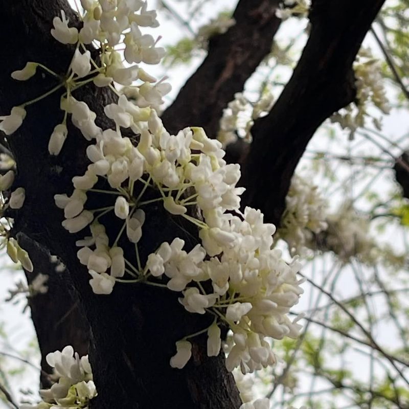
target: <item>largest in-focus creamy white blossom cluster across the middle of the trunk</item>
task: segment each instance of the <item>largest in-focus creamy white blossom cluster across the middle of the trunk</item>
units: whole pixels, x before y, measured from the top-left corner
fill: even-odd
[[[82,247],[78,257],[88,267],[94,292],[110,293],[125,272],[135,277],[131,281],[166,276],[167,288],[182,292],[179,301],[186,310],[203,314],[211,309],[215,323],[234,329],[236,346],[226,361],[230,370],[241,366],[243,372],[252,372],[272,365],[275,357],[264,337],[295,337],[300,329],[297,320],[290,322],[286,316],[302,292],[296,278],[299,264],[286,264],[281,252],[271,249],[275,228],[263,223],[260,211],[239,211],[239,195],[244,190],[236,187],[240,169],[225,163],[220,142],[207,138],[201,128],[186,128],[170,135],[153,109],[147,126],[134,121],[126,110],[118,116],[121,106],[127,104],[121,96],[118,104],[107,105],[105,112],[117,125],[128,115],[127,127],[138,127],[141,132],[139,144],[134,146],[119,130],[103,131],[96,144],[87,148],[92,164],[84,175],[73,178],[73,194],[56,196],[57,206],[67,217],[63,221],[67,230],[75,233],[91,223],[92,236],[78,242]],[[117,191],[117,197],[107,191],[113,197],[112,206],[84,210],[87,191],[93,191],[101,176]],[[137,184],[143,185],[142,191],[133,195]],[[151,191],[158,197],[144,200],[143,193]],[[145,221],[143,208],[152,201],[162,202],[169,213],[194,223],[201,244],[186,252],[184,241],[175,238],[150,254],[144,267],[132,266],[118,242],[124,235],[137,248]],[[190,216],[194,207],[201,211],[201,218]],[[101,215],[109,211],[122,223],[110,246],[103,224],[93,222],[95,212]],[[208,280],[211,293],[200,285]],[[208,353],[217,355],[220,329],[215,324],[206,330]],[[190,348],[186,339],[177,343],[171,365],[183,367]]]

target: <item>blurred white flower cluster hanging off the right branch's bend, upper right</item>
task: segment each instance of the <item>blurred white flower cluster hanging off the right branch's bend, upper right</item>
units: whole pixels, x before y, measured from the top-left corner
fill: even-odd
[[[331,122],[339,123],[343,129],[350,130],[353,138],[357,128],[365,126],[367,117],[372,118],[373,124],[380,129],[379,120],[369,112],[370,105],[388,114],[391,110],[386,90],[383,85],[380,62],[374,58],[370,49],[361,48],[353,64],[355,85],[357,88],[357,103],[350,104],[331,117]]]

